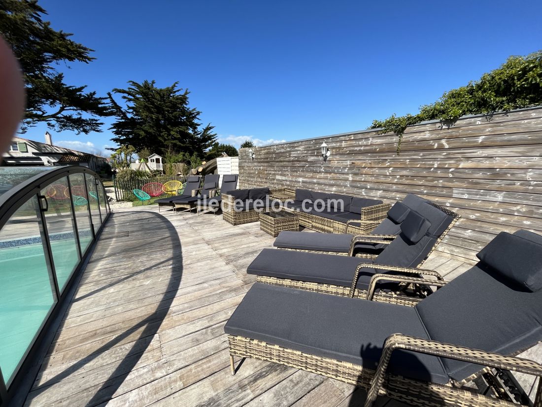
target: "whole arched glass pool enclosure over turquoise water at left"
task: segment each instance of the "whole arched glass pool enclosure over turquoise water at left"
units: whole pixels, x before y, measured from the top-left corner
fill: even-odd
[[[106,197],[86,167],[0,167],[0,404],[91,251]]]

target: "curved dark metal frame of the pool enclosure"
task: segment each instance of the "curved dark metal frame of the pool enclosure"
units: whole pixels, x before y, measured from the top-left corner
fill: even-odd
[[[80,271],[82,268],[82,265],[85,264],[88,256],[92,252],[93,246],[96,242],[96,238],[101,233],[105,222],[107,221],[109,214],[111,213],[111,209],[109,209],[109,204],[107,202],[107,195],[105,194],[105,188],[104,188],[104,203],[106,208],[106,213],[101,213],[103,211],[103,208],[100,205],[100,194],[98,193],[98,209],[100,213],[101,223],[98,230],[94,230],[94,224],[93,222],[89,222],[89,228],[92,231],[92,241],[88,246],[86,247],[85,251],[82,251],[82,247],[80,245],[80,237],[78,234],[78,225],[76,221],[76,215],[75,215],[75,209],[74,209],[74,203],[73,200],[70,199],[70,205],[69,210],[70,214],[72,215],[72,222],[73,222],[73,229],[74,229],[74,239],[78,250],[78,257],[79,262],[75,266],[75,269],[72,273],[72,275],[69,277],[66,285],[64,285],[63,290],[61,291],[59,289],[59,285],[57,282],[56,272],[55,272],[55,265],[53,262],[53,253],[51,252],[51,241],[49,239],[49,233],[47,231],[47,222],[45,218],[44,212],[47,211],[48,207],[48,201],[47,196],[44,196],[41,194],[41,191],[43,188],[51,185],[52,182],[56,180],[60,180],[63,177],[66,177],[68,188],[71,191],[70,188],[70,179],[69,175],[72,174],[78,174],[83,173],[83,177],[85,177],[85,192],[87,193],[87,197],[89,196],[88,191],[88,185],[86,182],[86,176],[85,174],[92,175],[95,180],[96,184],[96,192],[98,192],[98,186],[101,186],[101,188],[104,188],[103,184],[101,183],[100,176],[96,174],[91,169],[88,169],[86,167],[80,167],[80,166],[66,166],[66,167],[59,167],[58,169],[53,169],[49,171],[43,171],[42,173],[36,174],[29,179],[21,182],[20,184],[16,185],[15,187],[11,188],[4,194],[0,195],[0,231],[5,226],[5,224],[8,222],[8,220],[12,217],[12,215],[17,212],[17,210],[22,207],[27,201],[33,199],[34,197],[37,198],[39,211],[36,211],[38,214],[38,221],[40,222],[40,227],[42,228],[42,244],[44,246],[44,255],[45,260],[47,264],[47,269],[49,272],[49,278],[51,279],[51,282],[54,282],[54,288],[55,292],[53,292],[53,297],[56,300],[54,302],[54,305],[52,306],[51,310],[49,311],[46,319],[41,325],[41,328],[38,330],[38,332],[35,334],[34,339],[31,341],[30,346],[27,349],[27,352],[23,356],[23,359],[18,366],[15,373],[12,375],[12,379],[9,384],[9,388],[4,380],[4,377],[2,375],[2,369],[0,366],[0,406],[5,405],[6,402],[11,398],[12,395],[17,391],[17,387],[19,384],[22,383],[23,380],[27,381],[27,379],[24,378],[25,374],[31,370],[32,367],[36,369],[36,366],[33,366],[34,358],[38,353],[43,351],[42,345],[45,337],[49,334],[49,327],[53,323],[53,321],[58,317],[59,311],[61,308],[65,308],[63,306],[66,306],[66,299],[73,295],[73,283],[78,279],[77,277],[80,275]],[[91,206],[87,205],[88,213],[89,213],[89,219],[92,219],[91,214]],[[0,282],[1,284],[2,282]],[[0,329],[3,329],[3,327],[0,327]],[[4,328],[5,329],[5,328]],[[37,371],[35,372],[37,373]],[[33,379],[31,380],[33,381]],[[23,386],[24,387],[24,386]]]

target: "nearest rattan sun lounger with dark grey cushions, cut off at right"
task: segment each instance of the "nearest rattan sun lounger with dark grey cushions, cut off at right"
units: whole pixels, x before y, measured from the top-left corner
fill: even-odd
[[[224,328],[231,373],[234,357],[272,361],[363,387],[366,407],[517,405],[465,385],[489,368],[542,377],[513,356],[542,340],[542,237],[501,233],[478,257],[415,307],[255,283]]]

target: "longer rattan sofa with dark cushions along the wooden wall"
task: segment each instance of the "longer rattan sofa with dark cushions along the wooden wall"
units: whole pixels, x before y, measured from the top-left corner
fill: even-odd
[[[356,221],[353,232],[369,233],[386,217],[391,205],[378,199],[298,188],[285,207],[299,213],[301,226],[318,232],[344,233],[347,222]]]

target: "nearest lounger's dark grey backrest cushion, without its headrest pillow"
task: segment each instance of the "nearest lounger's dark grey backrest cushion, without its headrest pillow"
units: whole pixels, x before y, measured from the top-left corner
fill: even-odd
[[[512,354],[542,340],[542,290],[515,290],[481,262],[425,298],[416,309],[436,341]],[[459,360],[442,361],[455,380],[482,368]]]

